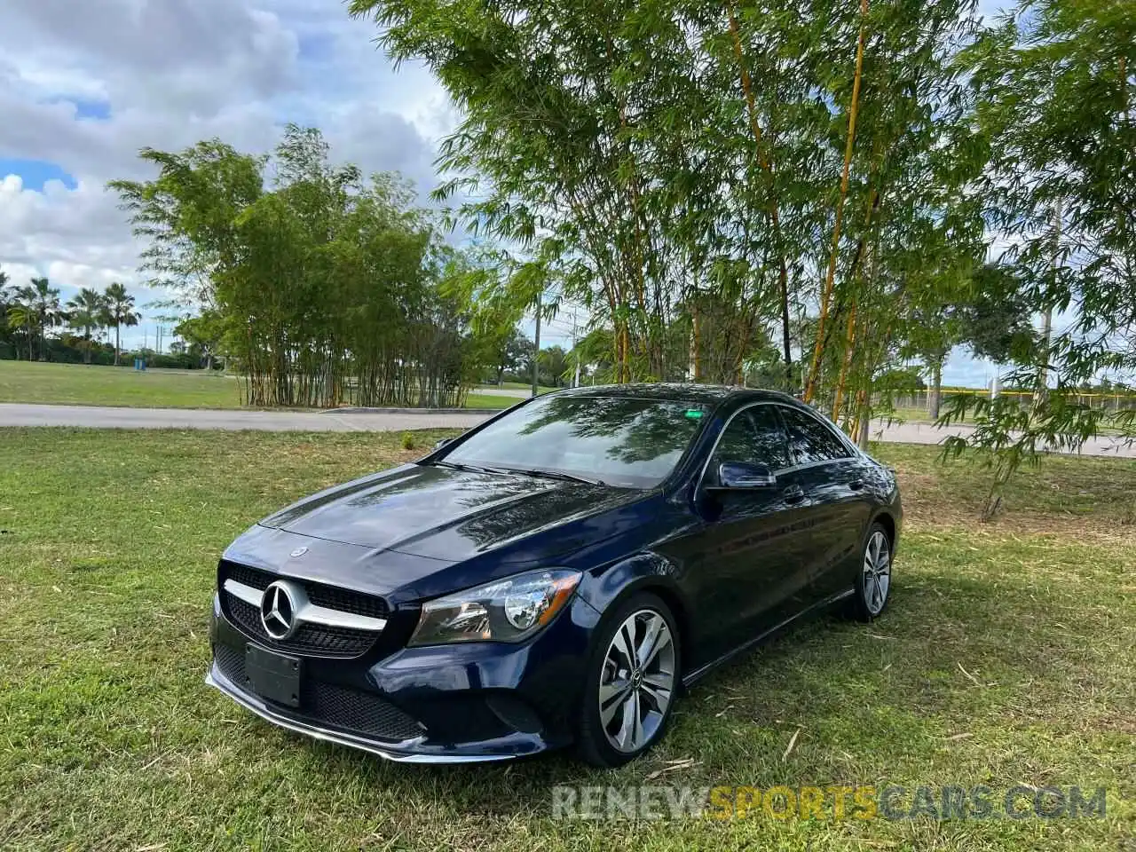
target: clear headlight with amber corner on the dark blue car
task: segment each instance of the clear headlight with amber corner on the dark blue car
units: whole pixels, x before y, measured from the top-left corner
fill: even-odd
[[[409,644],[519,642],[556,617],[579,578],[563,568],[526,571],[427,601]]]

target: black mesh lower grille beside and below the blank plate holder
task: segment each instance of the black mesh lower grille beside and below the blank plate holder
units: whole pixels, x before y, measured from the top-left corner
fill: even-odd
[[[229,645],[215,645],[214,659],[220,673],[242,690],[251,687],[244,675],[244,651]],[[281,716],[296,716],[298,711],[267,702]],[[300,692],[299,715],[337,728],[366,736],[403,742],[423,733],[421,726],[394,704],[366,692],[318,680],[304,679]]]

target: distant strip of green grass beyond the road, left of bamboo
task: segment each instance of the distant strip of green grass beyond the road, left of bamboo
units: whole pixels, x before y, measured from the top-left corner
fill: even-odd
[[[240,408],[232,376],[0,360],[0,402],[143,408]]]

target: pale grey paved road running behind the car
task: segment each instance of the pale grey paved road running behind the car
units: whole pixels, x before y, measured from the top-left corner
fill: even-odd
[[[33,406],[0,403],[0,426],[85,426],[93,428],[256,429],[261,432],[401,432],[403,429],[469,428],[487,414],[429,411],[241,411],[189,408],[99,408],[94,406]],[[972,427],[938,429],[930,424],[882,421],[871,437],[888,442],[937,444],[946,435],[966,435]],[[1110,437],[1085,444],[1085,456],[1136,458],[1136,446]]]

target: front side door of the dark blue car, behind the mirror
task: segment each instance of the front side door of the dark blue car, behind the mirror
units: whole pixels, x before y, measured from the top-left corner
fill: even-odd
[[[770,487],[716,491],[724,461],[790,467],[782,421],[769,403],[737,411],[707,463],[700,486],[701,583],[699,618],[710,626],[708,644],[719,653],[775,627],[809,595],[808,542],[800,526],[804,495]]]

